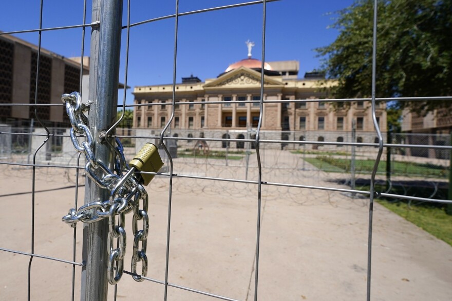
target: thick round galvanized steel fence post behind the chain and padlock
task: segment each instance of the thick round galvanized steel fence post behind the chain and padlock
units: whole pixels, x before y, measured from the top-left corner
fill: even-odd
[[[92,21],[100,26],[91,31],[89,99],[92,101],[88,119],[98,160],[112,169],[114,155],[103,135],[116,121],[119,57],[121,46],[122,1],[93,0]],[[114,133],[114,132],[113,132]],[[109,198],[109,191],[86,179],[85,204]],[[84,224],[81,300],[107,299],[107,237],[108,220]]]

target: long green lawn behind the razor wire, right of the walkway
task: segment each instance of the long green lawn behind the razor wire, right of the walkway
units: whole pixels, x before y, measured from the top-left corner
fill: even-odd
[[[306,158],[306,160],[319,169],[325,169],[324,166],[334,166],[337,170],[326,169],[326,171],[350,172],[350,159],[333,158],[330,156],[317,156],[314,160]],[[328,165],[325,165],[328,164]],[[355,160],[356,173],[370,173],[373,169],[373,160]],[[386,162],[381,161],[377,172],[386,172]],[[446,178],[449,176],[448,167],[432,164],[421,164],[413,162],[392,162],[393,175],[409,175],[409,176],[428,176]]]

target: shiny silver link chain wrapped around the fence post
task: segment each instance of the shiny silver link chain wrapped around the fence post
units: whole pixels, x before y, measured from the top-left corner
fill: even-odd
[[[110,284],[117,284],[124,271],[124,256],[126,248],[125,214],[133,211],[133,232],[134,247],[131,258],[131,273],[133,278],[141,282],[147,274],[147,234],[149,229],[149,218],[147,214],[148,195],[140,180],[133,173],[123,172],[130,170],[125,163],[124,148],[121,142],[116,138],[116,147],[108,143],[107,145],[115,152],[114,172],[104,163],[96,159],[95,143],[88,125],[88,119],[83,114],[85,107],[82,104],[82,97],[79,92],[63,94],[62,102],[66,106],[66,112],[69,116],[72,128],[70,129],[70,138],[74,148],[83,153],[86,157],[85,171],[88,177],[103,189],[110,191],[110,198],[103,202],[92,202],[81,206],[78,210],[72,208],[68,214],[63,216],[63,222],[71,227],[76,227],[78,222],[94,223],[101,219],[108,218],[108,240],[107,249],[108,269],[107,277]],[[86,140],[79,142],[79,137],[85,135]],[[142,200],[142,209],[140,209],[140,200]],[[118,218],[117,218],[118,217]],[[143,229],[138,230],[138,221],[142,220]],[[117,239],[116,244],[114,242]],[[141,242],[141,249],[139,244]],[[117,246],[117,247],[115,247]],[[141,274],[137,274],[137,263],[142,262]],[[141,276],[140,276],[141,275]]]

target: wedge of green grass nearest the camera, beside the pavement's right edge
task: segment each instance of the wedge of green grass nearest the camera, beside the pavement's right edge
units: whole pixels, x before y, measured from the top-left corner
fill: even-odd
[[[381,199],[377,202],[452,246],[452,215],[447,215],[444,207],[408,207],[404,202],[388,202]]]

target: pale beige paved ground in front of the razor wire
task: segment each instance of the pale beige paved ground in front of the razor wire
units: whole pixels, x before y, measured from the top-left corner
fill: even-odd
[[[262,180],[341,187],[327,182],[328,174],[322,172],[278,169],[294,165],[280,160],[286,159],[269,159]],[[0,247],[30,252],[31,170],[1,168]],[[255,168],[247,175],[244,168],[215,165],[214,160],[205,163],[175,159],[174,172],[257,179]],[[72,258],[73,232],[61,217],[73,207],[75,188],[54,189],[73,185],[74,174],[73,169],[36,171],[36,254]],[[83,203],[83,190],[79,188],[79,203]],[[147,190],[151,229],[148,277],[163,280],[168,178],[156,178]],[[374,209],[371,299],[450,300],[452,247],[378,204]],[[168,281],[252,300],[256,216],[256,185],[174,178]],[[130,215],[126,231],[125,266],[129,270],[133,245]],[[324,190],[263,186],[261,231],[259,300],[365,300],[368,200]],[[77,262],[81,262],[81,234],[79,230],[76,237]],[[26,299],[28,262],[28,256],[0,251],[1,300]],[[76,268],[76,300],[80,299],[80,272]],[[34,258],[31,299],[70,300],[71,279],[70,265]],[[124,275],[118,286],[118,300],[145,299],[163,300],[163,286],[147,281],[136,283]],[[214,299],[168,289],[168,300]]]

